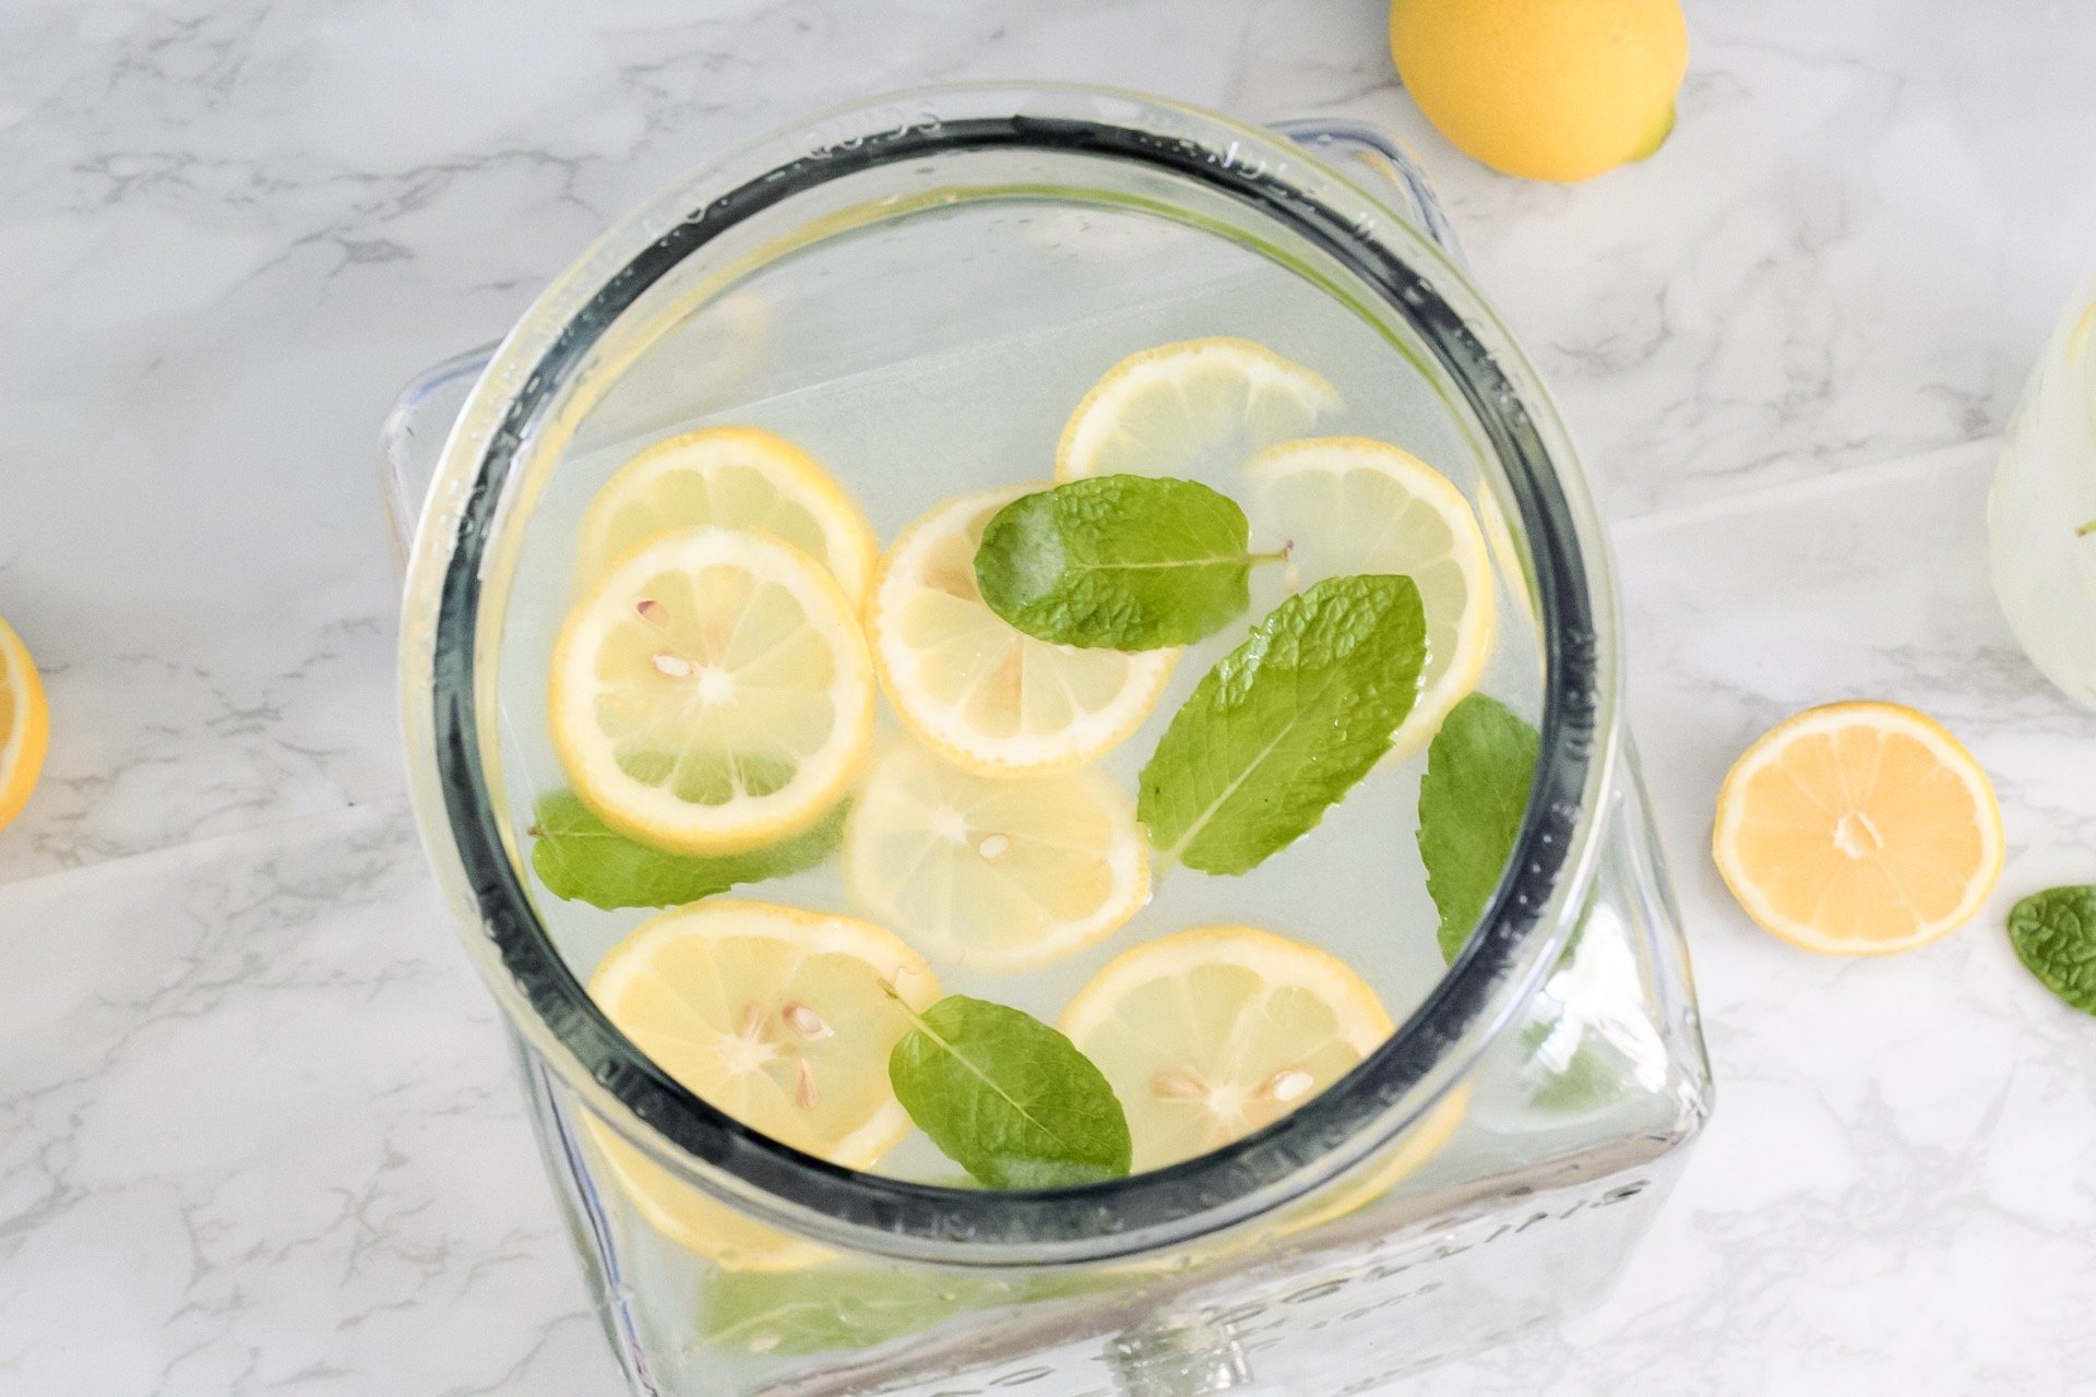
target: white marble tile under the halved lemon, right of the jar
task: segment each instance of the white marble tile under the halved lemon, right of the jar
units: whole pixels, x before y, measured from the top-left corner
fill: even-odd
[[[2016,963],[2010,903],[2096,878],[2096,714],[1985,576],[1989,446],[1618,530],[1631,708],[1696,953],[1719,1106],[1597,1311],[1417,1384],[1457,1393],[2079,1393],[2096,1345],[2096,1033]],[[1759,932],[1706,852],[1733,756],[1796,708],[1899,695],[2002,796],[1972,926],[1884,961]]]

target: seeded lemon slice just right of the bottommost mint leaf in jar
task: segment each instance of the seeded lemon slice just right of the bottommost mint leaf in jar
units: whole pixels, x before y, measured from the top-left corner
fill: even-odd
[[[1121,1097],[1134,1167],[1161,1169],[1308,1102],[1390,1037],[1390,1014],[1316,947],[1203,926],[1109,961],[1063,1033]]]

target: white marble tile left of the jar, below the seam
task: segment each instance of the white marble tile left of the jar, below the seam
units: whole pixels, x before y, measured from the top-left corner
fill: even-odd
[[[0,886],[0,1393],[610,1393],[398,800]]]

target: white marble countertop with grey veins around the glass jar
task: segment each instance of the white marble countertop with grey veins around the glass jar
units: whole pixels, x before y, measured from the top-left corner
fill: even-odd
[[[2096,262],[2096,15],[1691,10],[1666,149],[1549,189],[1421,124],[1379,0],[0,8],[0,614],[54,712],[0,834],[0,1393],[616,1391],[413,842],[377,423],[725,142],[1000,75],[1413,138],[1616,526],[1719,1112],[1599,1309],[1415,1389],[2086,1391],[2096,1024],[2000,922],[2096,878],[2096,718],[1981,509]],[[1895,961],[1786,951],[1704,852],[1842,695],[2006,798],[1995,903]]]

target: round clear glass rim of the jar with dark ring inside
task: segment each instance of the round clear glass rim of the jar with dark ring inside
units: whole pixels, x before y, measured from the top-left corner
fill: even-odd
[[[687,256],[796,193],[1000,147],[1132,161],[1203,184],[1308,239],[1409,320],[1499,457],[1530,540],[1545,649],[1541,758],[1513,857],[1463,953],[1406,1022],[1264,1131],[1167,1169],[1038,1192],[840,1169],[750,1131],[656,1068],[604,1018],[539,922],[482,746],[493,695],[482,664],[486,553],[534,429],[604,331]],[[400,702],[423,842],[461,922],[482,930],[467,936],[482,976],[591,1110],[694,1185],[817,1240],[949,1263],[1075,1261],[1283,1206],[1453,1087],[1570,934],[1566,909],[1585,896],[1616,760],[1616,670],[1614,589],[1570,440],[1465,272],[1406,216],[1270,132],[1211,113],[1086,86],[964,84],[840,107],[723,157],[612,226],[539,297],[474,387],[423,507],[402,609]]]

